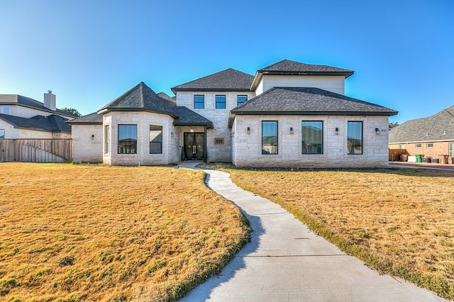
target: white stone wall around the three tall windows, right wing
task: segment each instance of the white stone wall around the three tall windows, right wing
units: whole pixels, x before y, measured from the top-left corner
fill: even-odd
[[[262,121],[278,121],[278,154],[262,155]],[[301,121],[323,121],[323,154],[301,154]],[[347,154],[347,122],[362,121],[362,155]],[[247,128],[250,127],[250,134]],[[294,128],[294,134],[290,133]],[[339,134],[335,129],[339,128]],[[380,135],[375,133],[380,128]],[[387,167],[387,116],[236,116],[237,167]]]

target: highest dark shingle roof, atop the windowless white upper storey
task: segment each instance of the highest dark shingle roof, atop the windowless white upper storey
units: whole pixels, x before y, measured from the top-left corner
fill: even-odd
[[[341,75],[347,79],[353,74],[353,70],[333,67],[328,65],[312,65],[292,60],[282,60],[275,64],[258,69],[255,72],[254,82],[250,90],[255,90],[264,74],[279,75]]]

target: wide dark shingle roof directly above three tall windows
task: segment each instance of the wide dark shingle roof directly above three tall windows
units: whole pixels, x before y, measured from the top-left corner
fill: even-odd
[[[235,114],[394,116],[397,111],[313,87],[275,87],[245,101]]]

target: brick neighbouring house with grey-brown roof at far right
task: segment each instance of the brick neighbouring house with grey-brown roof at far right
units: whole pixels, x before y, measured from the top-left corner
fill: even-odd
[[[389,149],[405,149],[408,155],[454,157],[454,106],[433,116],[406,121],[389,131]]]

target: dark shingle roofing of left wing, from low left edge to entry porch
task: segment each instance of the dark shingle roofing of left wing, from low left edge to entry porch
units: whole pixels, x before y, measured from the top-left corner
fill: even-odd
[[[209,119],[184,106],[177,106],[174,101],[162,99],[144,82],[140,82],[132,89],[126,91],[125,94],[111,101],[111,103],[101,108],[98,113],[76,118],[70,123],[74,125],[101,124],[102,114],[109,111],[150,111],[172,116],[172,118],[175,118],[174,125],[206,125],[209,128],[213,127],[213,123]]]

